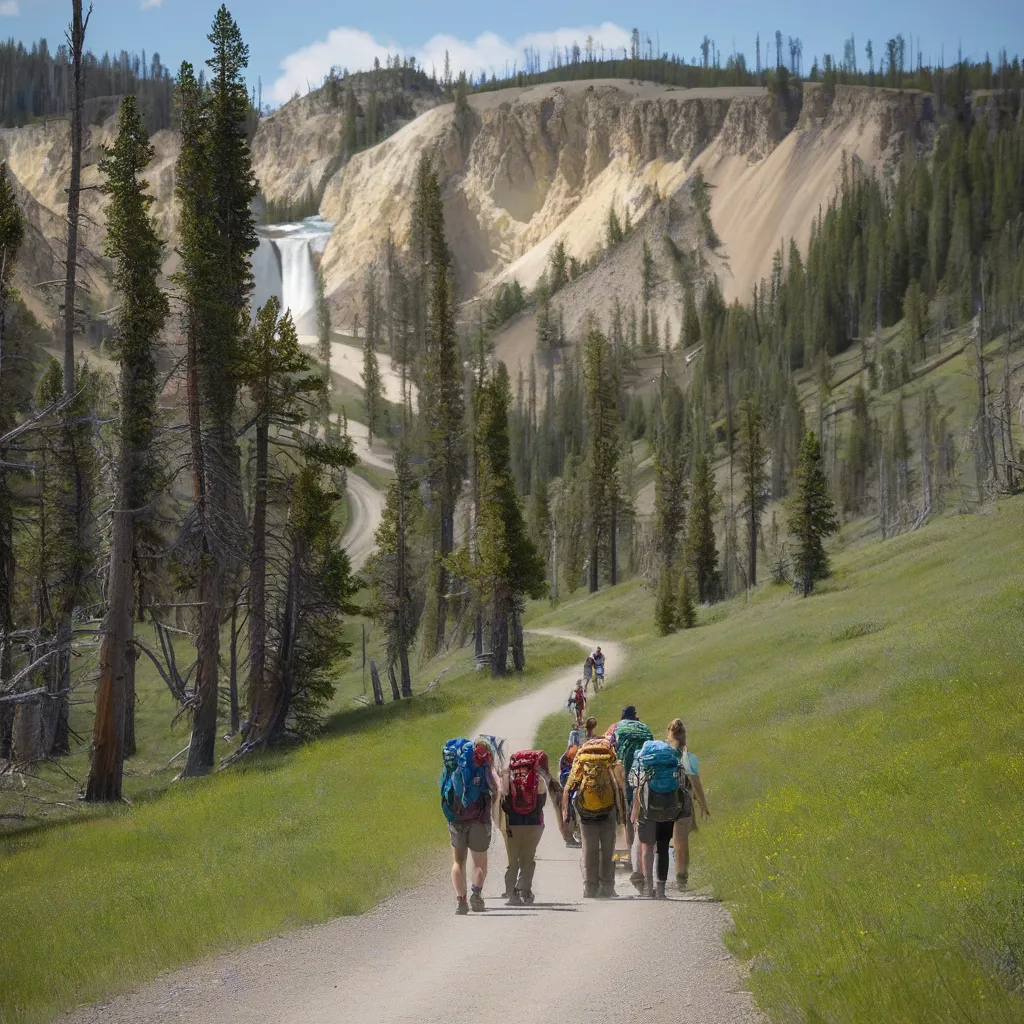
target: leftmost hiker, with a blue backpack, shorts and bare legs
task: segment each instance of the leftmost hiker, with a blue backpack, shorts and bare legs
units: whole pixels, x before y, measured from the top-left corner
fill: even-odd
[[[492,819],[497,820],[501,792],[495,774],[495,749],[482,736],[475,741],[450,739],[442,750],[441,810],[447,820],[454,862],[456,913],[484,909],[483,882],[487,876],[487,849]],[[469,901],[466,900],[466,858],[473,862]]]

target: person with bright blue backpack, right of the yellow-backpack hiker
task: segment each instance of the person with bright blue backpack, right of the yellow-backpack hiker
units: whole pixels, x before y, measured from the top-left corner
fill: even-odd
[[[676,822],[692,815],[693,800],[680,764],[680,752],[660,739],[640,748],[633,764],[632,817],[640,839],[643,895],[665,899],[669,846]],[[654,856],[657,855],[657,880]]]

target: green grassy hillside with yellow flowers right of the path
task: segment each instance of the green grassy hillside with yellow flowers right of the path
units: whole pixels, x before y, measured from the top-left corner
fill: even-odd
[[[1024,499],[943,518],[666,639],[636,585],[538,616],[633,638],[602,728],[626,702],[687,723],[695,880],[773,1020],[1024,1020],[1022,525]],[[564,741],[554,716],[538,742]]]

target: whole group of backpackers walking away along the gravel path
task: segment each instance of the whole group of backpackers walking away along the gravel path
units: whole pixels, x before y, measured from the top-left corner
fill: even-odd
[[[600,664],[603,675],[603,655]],[[574,692],[581,689],[586,697],[583,682]],[[543,751],[516,751],[506,763],[504,741],[495,736],[460,737],[444,744],[441,809],[454,852],[456,913],[484,909],[483,884],[494,825],[501,828],[508,854],[503,898],[510,906],[534,902],[537,848],[546,807],[557,814],[566,847],[583,851],[585,898],[616,895],[620,833],[625,834],[630,882],[640,895],[666,897],[671,846],[675,847],[676,883],[680,890],[687,887],[689,836],[696,828],[694,802],[703,817],[711,811],[696,756],[686,746],[682,720],[674,719],[666,738],[655,739],[639,720],[636,708],[629,705],[620,720],[599,736],[597,719],[581,721],[582,710],[578,711],[572,696],[569,710],[575,720],[557,777]]]

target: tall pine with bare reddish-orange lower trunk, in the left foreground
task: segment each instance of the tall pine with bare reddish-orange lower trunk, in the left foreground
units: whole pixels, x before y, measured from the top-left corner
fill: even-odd
[[[134,96],[121,104],[118,136],[99,169],[106,210],[105,254],[114,262],[120,304],[111,346],[120,366],[117,485],[114,498],[109,604],[99,646],[92,763],[85,799],[119,801],[125,756],[125,721],[134,716],[135,521],[153,500],[159,471],[153,444],[157,422],[155,349],[169,312],[158,276],[164,245],[150,217],[153,197],[139,175],[153,159],[148,130]]]

